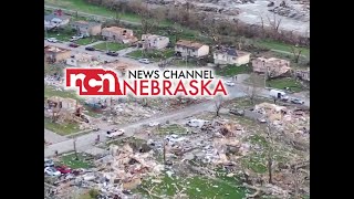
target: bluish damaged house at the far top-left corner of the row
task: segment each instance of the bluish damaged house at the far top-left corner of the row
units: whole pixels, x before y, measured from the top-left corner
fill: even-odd
[[[53,29],[69,24],[70,17],[65,15],[62,10],[44,15],[44,29]]]

